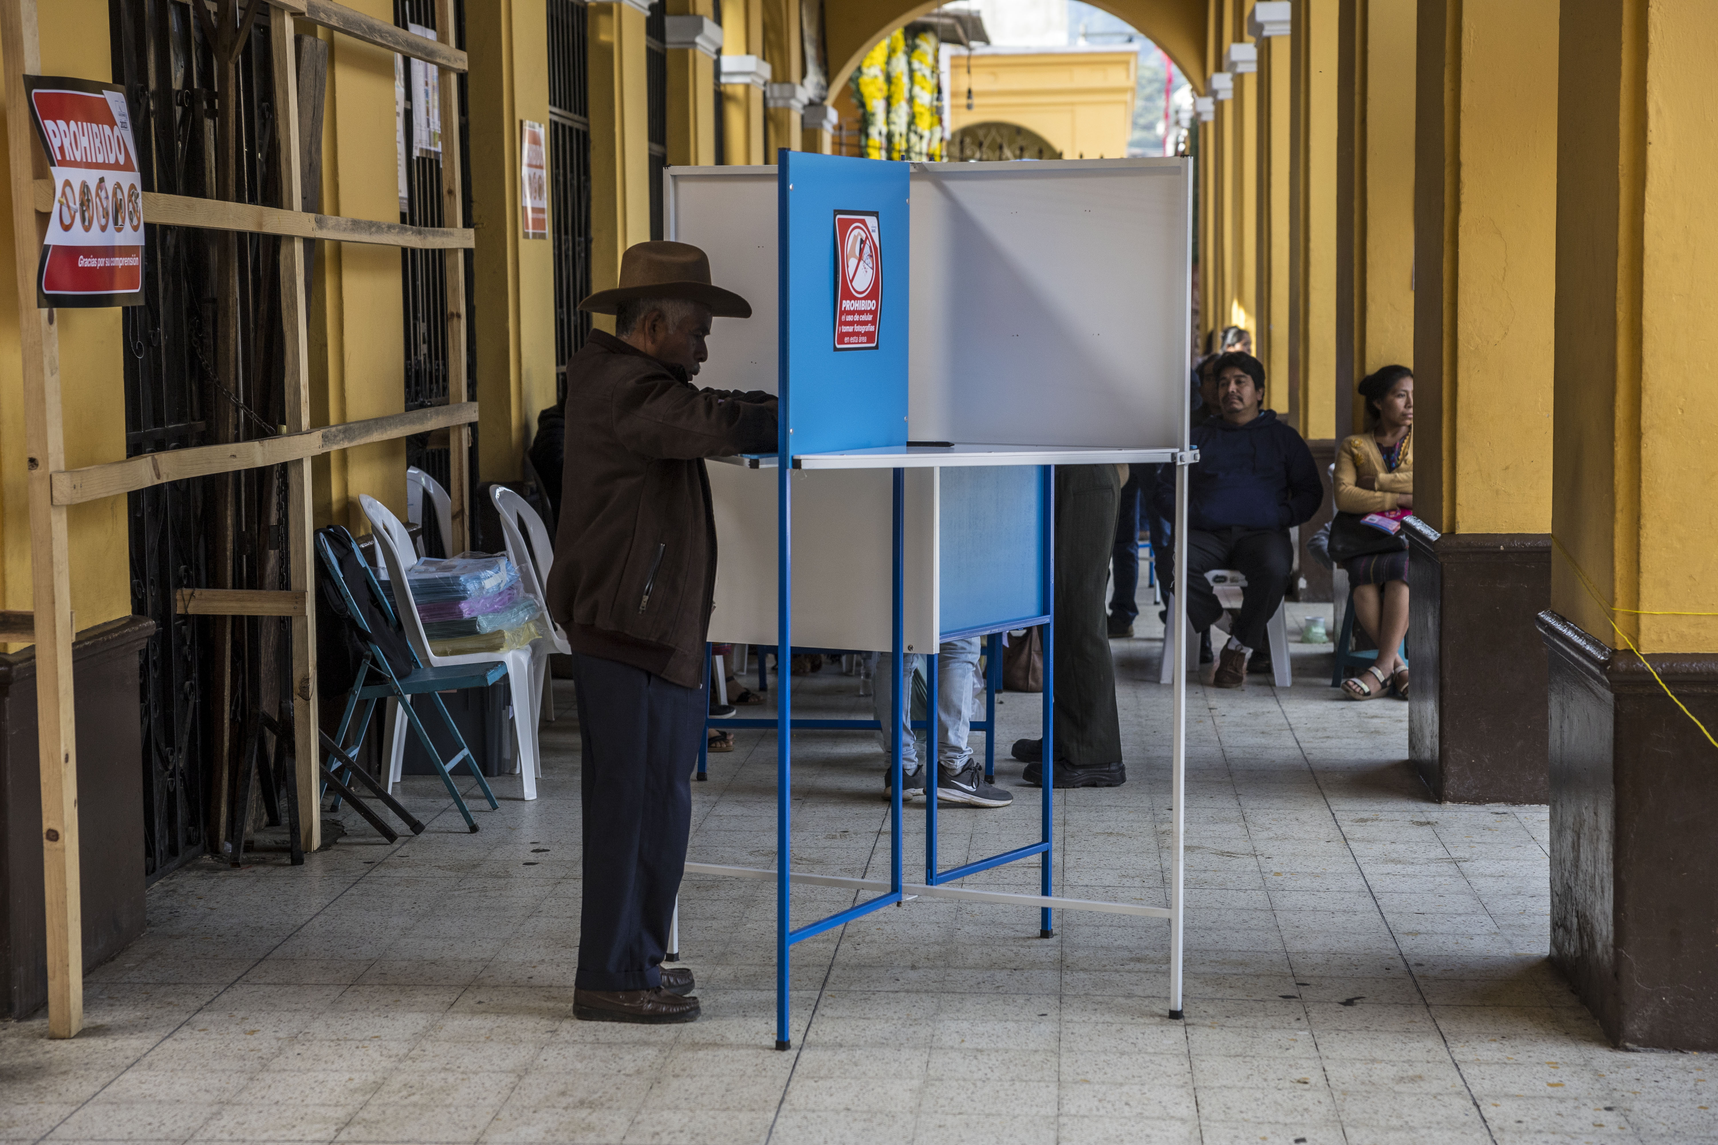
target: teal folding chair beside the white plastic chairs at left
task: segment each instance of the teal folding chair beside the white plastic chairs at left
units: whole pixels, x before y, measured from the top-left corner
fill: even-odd
[[[344,561],[335,554],[335,548],[345,553]],[[338,601],[333,599],[333,594],[326,592],[325,599],[335,606],[337,613],[342,613],[340,620],[364,645],[364,657],[357,666],[357,673],[352,676],[352,690],[345,697],[345,711],[340,716],[340,728],[333,735],[333,754],[340,762],[330,766],[330,776],[338,772],[344,783],[350,781],[352,762],[357,757],[357,748],[364,743],[364,736],[369,733],[369,719],[376,711],[376,702],[387,699],[399,700],[399,709],[405,712],[407,723],[417,735],[417,742],[423,743],[424,752],[430,755],[430,762],[435,766],[436,774],[442,776],[442,785],[459,807],[459,814],[464,815],[466,826],[476,833],[478,824],[471,817],[471,809],[466,807],[466,800],[460,797],[459,786],[454,783],[454,767],[466,764],[471,769],[471,774],[478,779],[478,786],[483,788],[483,798],[490,802],[490,810],[497,810],[500,803],[495,802],[495,793],[490,791],[488,779],[483,778],[483,771],[478,767],[476,757],[471,754],[471,748],[466,747],[466,738],[454,724],[454,718],[448,716],[440,694],[466,688],[486,688],[507,675],[507,663],[491,661],[484,664],[424,668],[417,659],[417,654],[412,652],[411,645],[405,642],[399,620],[393,616],[393,609],[388,604],[388,597],[381,591],[381,585],[376,584],[376,575],[369,570],[369,563],[364,560],[362,553],[357,551],[357,542],[352,541],[352,534],[338,525],[318,529],[316,551],[321,554],[323,570],[328,573],[328,584],[337,589],[338,594]],[[359,570],[362,570],[364,592],[369,608],[359,606],[357,597],[352,594],[352,587],[347,584],[347,577],[357,577]],[[388,645],[388,649],[393,651],[392,659],[383,645]],[[395,661],[405,668],[404,675],[395,669]],[[428,695],[433,702],[436,714],[442,718],[442,724],[454,738],[454,743],[459,745],[459,750],[452,759],[443,762],[442,754],[435,747],[435,740],[430,738],[430,731],[417,718],[417,711],[407,700],[411,695]],[[359,704],[362,704],[362,712],[359,712]],[[354,716],[357,716],[357,733],[352,738],[347,738],[347,733],[354,728]],[[328,783],[325,781],[323,795],[326,793]]]

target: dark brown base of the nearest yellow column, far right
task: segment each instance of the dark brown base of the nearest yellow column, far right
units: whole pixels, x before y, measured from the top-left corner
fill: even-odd
[[[1544,611],[1551,958],[1618,1045],[1718,1051],[1718,762],[1646,664]],[[1718,654],[1654,654],[1718,726]]]

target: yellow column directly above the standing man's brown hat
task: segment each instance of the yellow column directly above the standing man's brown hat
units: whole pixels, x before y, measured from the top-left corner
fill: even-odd
[[[620,256],[649,242],[649,122],[644,9],[632,0],[589,5],[591,38],[591,288],[620,282]],[[596,316],[613,330],[613,318]]]

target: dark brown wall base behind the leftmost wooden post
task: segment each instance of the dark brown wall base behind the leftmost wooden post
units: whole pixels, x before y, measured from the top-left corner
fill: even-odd
[[[137,673],[155,621],[96,625],[72,644],[84,970],[143,934],[143,709]],[[36,760],[36,649],[0,654],[0,1018],[48,1001]]]

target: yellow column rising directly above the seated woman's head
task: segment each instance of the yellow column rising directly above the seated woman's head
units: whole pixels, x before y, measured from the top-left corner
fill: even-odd
[[[1338,438],[1366,424],[1361,378],[1414,364],[1414,0],[1342,0]]]

